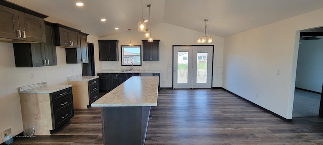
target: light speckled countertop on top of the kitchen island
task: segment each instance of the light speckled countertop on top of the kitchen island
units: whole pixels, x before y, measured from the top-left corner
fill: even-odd
[[[96,100],[91,106],[157,106],[158,85],[158,76],[133,76]]]

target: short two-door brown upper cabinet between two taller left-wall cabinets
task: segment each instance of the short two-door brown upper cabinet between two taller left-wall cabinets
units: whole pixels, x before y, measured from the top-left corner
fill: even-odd
[[[61,24],[55,24],[55,44],[65,48],[79,48],[80,39],[79,33],[81,31],[64,26]]]

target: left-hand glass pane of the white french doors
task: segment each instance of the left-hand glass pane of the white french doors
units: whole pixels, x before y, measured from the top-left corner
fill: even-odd
[[[188,81],[188,51],[177,52],[177,83]]]

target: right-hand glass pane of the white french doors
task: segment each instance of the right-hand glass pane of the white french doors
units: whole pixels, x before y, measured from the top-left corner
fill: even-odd
[[[207,51],[197,52],[196,83],[207,83]]]

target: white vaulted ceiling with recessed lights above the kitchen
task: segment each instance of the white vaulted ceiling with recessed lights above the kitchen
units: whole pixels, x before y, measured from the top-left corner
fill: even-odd
[[[137,30],[141,19],[141,0],[8,1],[48,15],[46,21],[97,37]],[[77,7],[76,2],[84,6]],[[143,0],[144,19],[146,3],[152,5],[151,25],[164,22],[204,33],[204,19],[208,19],[207,33],[220,37],[323,8],[321,0]]]

